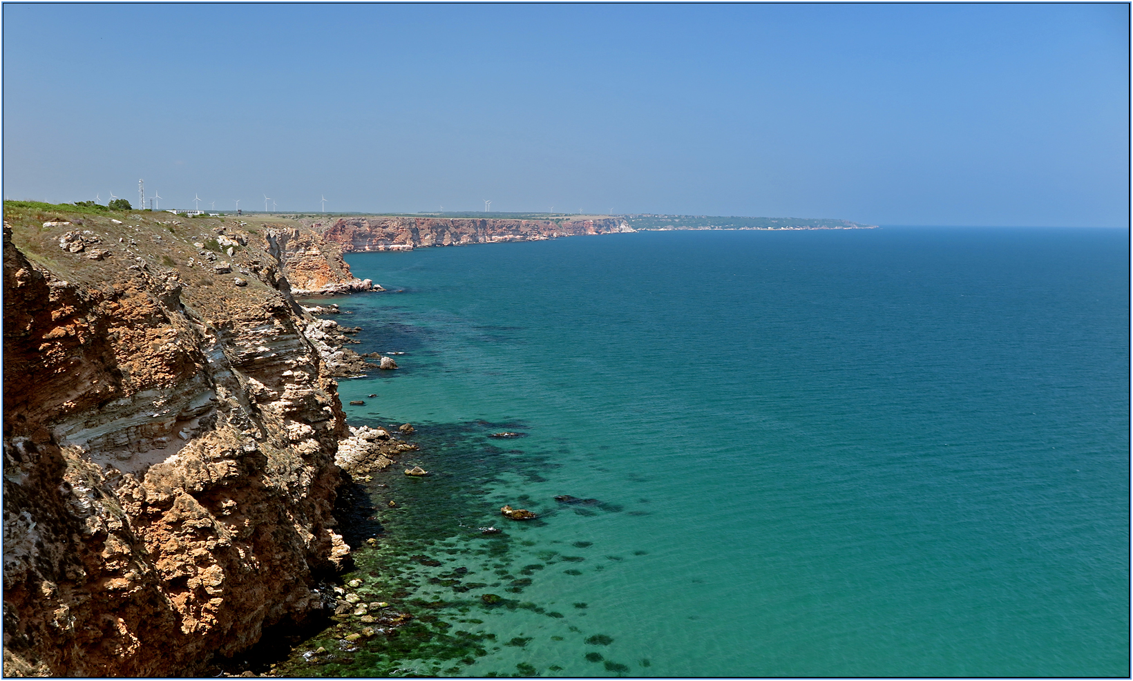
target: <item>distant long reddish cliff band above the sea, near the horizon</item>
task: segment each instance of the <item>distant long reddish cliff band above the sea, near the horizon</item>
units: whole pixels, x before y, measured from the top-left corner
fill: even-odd
[[[559,237],[631,232],[620,218],[585,220],[500,220],[488,218],[340,218],[310,222],[346,253],[408,250],[420,246],[457,246],[497,241],[538,241]]]

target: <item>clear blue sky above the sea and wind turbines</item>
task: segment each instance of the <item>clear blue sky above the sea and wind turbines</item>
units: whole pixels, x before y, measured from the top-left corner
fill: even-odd
[[[3,196],[1126,227],[1128,6],[5,3]]]

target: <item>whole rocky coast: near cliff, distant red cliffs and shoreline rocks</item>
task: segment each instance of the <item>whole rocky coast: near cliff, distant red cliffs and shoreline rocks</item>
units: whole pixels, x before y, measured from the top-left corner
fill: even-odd
[[[377,233],[356,222],[350,233]],[[494,222],[418,224],[401,244],[359,247],[325,238],[347,233],[341,220],[321,232],[272,216],[6,203],[5,674],[272,675],[267,661],[327,625],[347,648],[378,635],[378,647],[404,648],[397,631],[408,627],[444,655],[463,650],[466,664],[486,654],[446,638],[434,615],[411,614],[421,607],[404,601],[415,585],[399,581],[406,560],[421,557],[399,552],[451,530],[411,501],[426,476],[444,487],[448,475],[407,468],[368,486],[418,450],[407,441],[414,429],[353,427],[342,409],[337,378],[397,363],[352,350],[360,329],[339,316],[349,313],[309,299],[384,290],[355,278],[344,252],[632,231]],[[518,434],[485,437],[502,435]],[[389,496],[381,511],[375,495]],[[483,513],[475,496],[461,485],[429,503]],[[380,545],[377,519],[398,518],[406,499],[414,523]],[[493,555],[510,542],[499,531],[484,539]],[[389,601],[342,584],[351,571],[357,586],[368,579],[357,572],[359,548],[389,571]],[[428,579],[458,593],[487,586]],[[482,605],[519,603],[494,597]],[[306,653],[306,662],[350,657]],[[303,675],[306,662],[276,672]]]

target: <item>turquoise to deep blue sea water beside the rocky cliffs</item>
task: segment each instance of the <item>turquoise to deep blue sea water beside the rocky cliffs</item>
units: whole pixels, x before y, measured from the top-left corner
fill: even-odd
[[[1128,675],[1127,253],[891,228],[348,256],[401,292],[339,321],[406,352],[341,382],[348,415],[412,423],[434,471],[375,478],[385,560],[416,531],[443,564],[406,597],[482,649],[318,673]],[[427,581],[457,565],[499,586]]]

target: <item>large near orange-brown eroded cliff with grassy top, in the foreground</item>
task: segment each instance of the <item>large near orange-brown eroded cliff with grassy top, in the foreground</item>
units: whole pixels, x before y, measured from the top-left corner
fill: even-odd
[[[299,241],[118,216],[6,211],[7,675],[202,673],[348,560],[350,372],[273,253]]]

